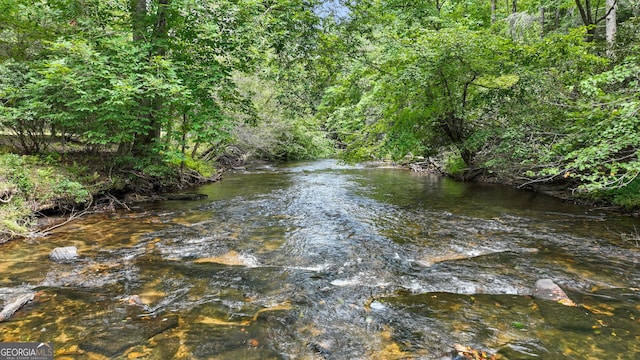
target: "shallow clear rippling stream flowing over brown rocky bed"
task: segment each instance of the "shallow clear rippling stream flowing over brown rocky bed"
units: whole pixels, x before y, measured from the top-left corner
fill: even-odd
[[[638,359],[637,219],[335,161],[2,245],[0,341],[56,359]],[[52,249],[79,257],[53,262]],[[577,306],[531,296],[552,279]]]

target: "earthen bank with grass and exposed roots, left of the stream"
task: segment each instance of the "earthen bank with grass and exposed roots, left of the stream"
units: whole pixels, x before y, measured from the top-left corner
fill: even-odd
[[[0,244],[29,235],[42,214],[69,214],[112,205],[127,193],[148,195],[216,178],[215,168],[194,161],[135,161],[95,153],[0,154]]]

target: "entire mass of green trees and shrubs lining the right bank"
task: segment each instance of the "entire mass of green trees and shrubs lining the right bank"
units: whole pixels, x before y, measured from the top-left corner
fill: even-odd
[[[333,30],[332,49],[344,55],[317,113],[344,156],[397,159],[453,146],[463,162],[449,158],[451,173],[487,166],[629,195],[640,174],[640,27],[624,15],[628,4],[617,59],[585,41],[591,32],[567,11],[574,2],[542,4],[563,16],[555,27],[536,18],[539,2],[497,5],[490,26],[486,4],[352,2],[352,18]]]

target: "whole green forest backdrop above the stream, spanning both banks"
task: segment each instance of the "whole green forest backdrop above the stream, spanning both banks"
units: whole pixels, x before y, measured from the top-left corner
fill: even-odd
[[[6,0],[3,152],[440,159],[640,204],[631,0]],[[154,172],[155,171],[155,172]],[[160,172],[162,173],[162,172]]]

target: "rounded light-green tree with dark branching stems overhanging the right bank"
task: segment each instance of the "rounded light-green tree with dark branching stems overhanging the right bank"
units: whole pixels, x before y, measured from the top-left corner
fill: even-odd
[[[468,140],[495,120],[496,97],[519,81],[510,42],[464,27],[411,29],[403,38],[393,31],[378,34],[377,46],[328,88],[320,115],[348,144],[347,156],[368,155],[363,147],[381,157],[429,155],[453,144],[470,164],[478,144]]]

